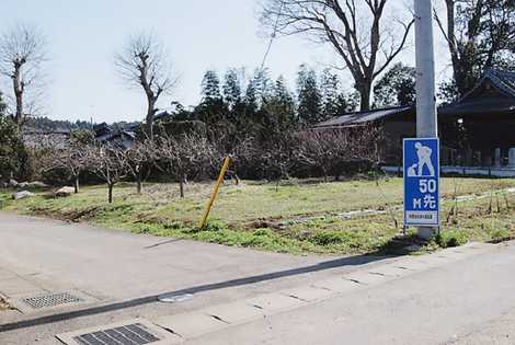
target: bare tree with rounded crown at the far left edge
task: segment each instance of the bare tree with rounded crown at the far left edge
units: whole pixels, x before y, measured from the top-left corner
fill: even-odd
[[[0,73],[10,78],[14,93],[12,117],[22,126],[31,115],[27,88],[35,88],[45,60],[45,39],[33,26],[20,24],[0,36]]]

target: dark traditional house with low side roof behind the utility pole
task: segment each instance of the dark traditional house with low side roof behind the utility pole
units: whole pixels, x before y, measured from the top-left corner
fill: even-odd
[[[443,165],[515,168],[515,72],[487,71],[469,93],[437,113]],[[313,129],[366,125],[380,128],[382,161],[401,165],[402,139],[416,136],[414,106],[344,114]]]

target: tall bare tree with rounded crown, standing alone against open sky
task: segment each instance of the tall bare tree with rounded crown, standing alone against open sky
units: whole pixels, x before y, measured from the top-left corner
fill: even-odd
[[[153,139],[153,118],[158,111],[156,104],[178,82],[164,48],[154,35],[139,33],[129,38],[121,53],[115,54],[115,66],[124,81],[145,91],[146,134]]]

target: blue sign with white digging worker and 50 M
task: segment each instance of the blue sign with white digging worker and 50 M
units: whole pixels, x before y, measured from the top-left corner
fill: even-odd
[[[404,139],[404,227],[439,227],[439,140]]]

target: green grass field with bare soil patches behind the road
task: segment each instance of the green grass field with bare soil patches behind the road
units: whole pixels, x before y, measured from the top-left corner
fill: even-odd
[[[491,198],[491,191],[515,187],[515,180],[443,179],[444,232],[423,250],[455,246],[467,241],[499,242],[515,235],[515,194]],[[197,229],[211,183],[187,185],[186,198],[175,184],[148,184],[137,195],[133,184],[115,187],[115,202],[105,203],[105,186],[84,187],[69,198],[48,198],[44,193],[12,202],[0,192],[0,207],[58,219],[88,221],[98,226],[179,239],[193,239],[274,252],[354,254],[385,253],[403,246],[397,239],[402,214],[402,180],[384,179],[320,183],[290,181],[276,189],[273,184],[227,182],[210,220]],[[457,195],[483,195],[459,203],[447,215]],[[487,195],[487,197],[484,197]],[[491,202],[492,199],[492,202]],[[513,208],[512,208],[513,205]],[[344,217],[353,210],[379,214]],[[409,237],[410,243],[416,241]],[[405,243],[404,243],[405,244]]]

